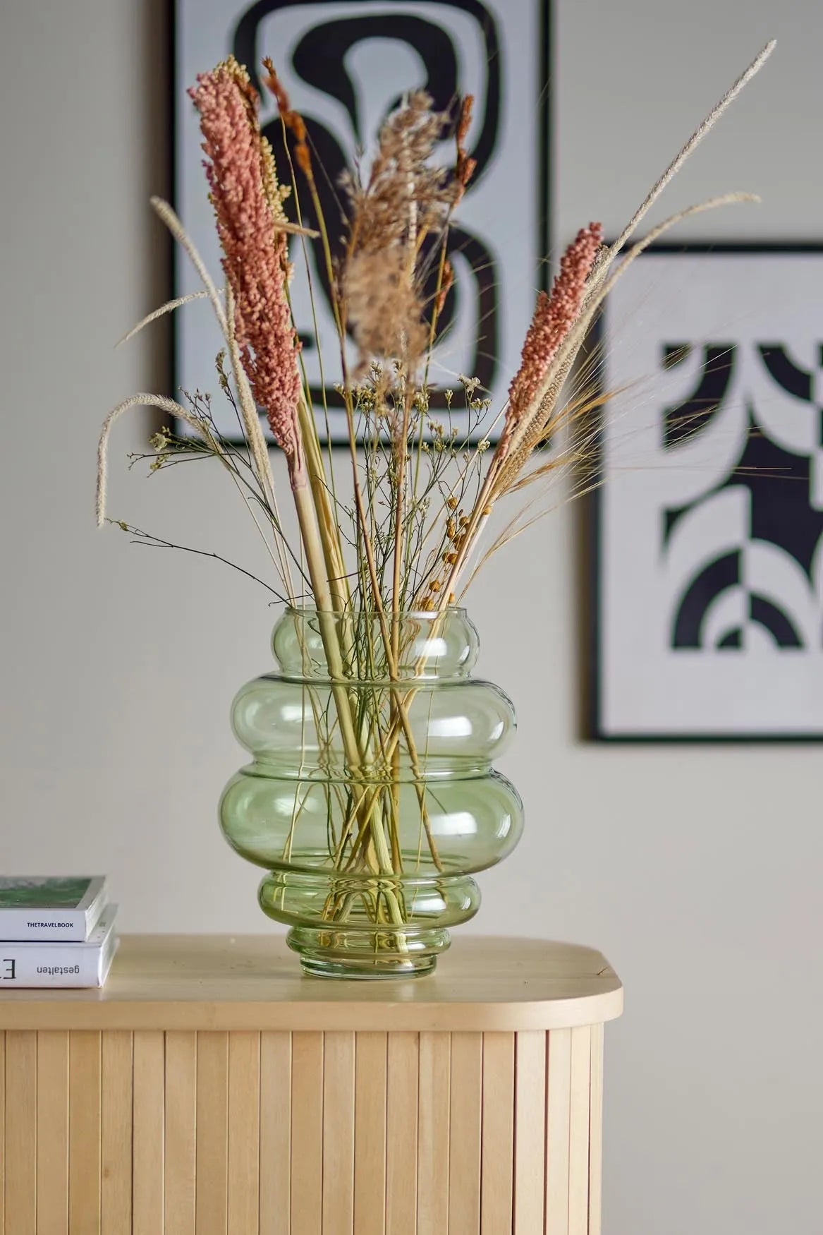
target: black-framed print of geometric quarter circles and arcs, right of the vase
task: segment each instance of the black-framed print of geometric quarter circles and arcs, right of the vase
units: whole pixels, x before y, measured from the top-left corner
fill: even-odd
[[[823,739],[823,251],[650,251],[612,294],[601,737]]]

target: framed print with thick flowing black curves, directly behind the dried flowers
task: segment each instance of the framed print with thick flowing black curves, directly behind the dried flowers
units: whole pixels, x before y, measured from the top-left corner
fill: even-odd
[[[438,109],[454,111],[458,95],[475,96],[468,146],[478,162],[459,219],[449,235],[454,284],[440,314],[442,338],[429,380],[439,388],[433,408],[445,408],[444,390],[458,377],[479,378],[500,411],[544,277],[548,253],[548,4],[549,0],[178,0],[175,28],[175,204],[210,269],[220,254],[202,174],[200,135],[185,89],[199,72],[228,52],[247,64],[253,80],[271,56],[325,174],[322,206],[329,236],[343,233],[338,185],[357,149],[369,148],[384,117],[415,89],[427,90]],[[265,90],[262,121],[279,167],[286,167],[280,124]],[[453,162],[450,141],[439,152]],[[300,174],[300,173],[297,173]],[[300,182],[297,182],[300,188]],[[308,195],[301,195],[311,225]],[[312,387],[321,435],[321,367],[329,393],[328,437],[344,441],[345,417],[333,385],[339,347],[333,326],[320,242],[310,246],[316,317],[306,279],[300,277],[297,241],[292,259],[295,320]],[[196,290],[196,275],[178,254],[176,291]],[[432,263],[434,266],[434,263]],[[434,274],[432,275],[434,278]],[[220,336],[205,304],[178,315],[175,383],[209,389]],[[220,411],[215,400],[213,410]],[[231,409],[218,427],[234,436]],[[490,414],[491,415],[491,414]],[[465,412],[450,425],[463,438],[490,436],[486,422],[469,426]],[[473,417],[474,420],[475,417]],[[491,432],[494,437],[494,431]]]

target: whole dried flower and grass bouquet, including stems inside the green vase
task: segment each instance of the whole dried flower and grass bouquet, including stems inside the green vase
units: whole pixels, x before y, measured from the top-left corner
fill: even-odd
[[[417,93],[385,120],[368,175],[355,169],[341,185],[348,199],[348,231],[343,257],[337,259],[326,232],[306,128],[271,62],[264,62],[265,84],[289,137],[289,169],[275,168],[260,132],[257,91],[233,58],[202,74],[190,90],[200,114],[223,253],[222,290],[172,207],[159,199],[152,204],[200,275],[202,290],[196,296],[211,301],[225,340],[217,357],[218,383],[237,415],[243,445],[220,436],[204,394],[186,394],[185,404],[146,394],[127,399],[109,414],[100,436],[97,521],[105,521],[109,435],[131,406],[159,408],[188,426],[188,433],[167,429],[152,438],[153,469],[202,456],[216,458],[230,473],[267,543],[274,571],[274,585],[267,585],[291,606],[312,605],[317,613],[329,706],[317,694],[311,706],[320,746],[326,743],[329,762],[341,761],[336,783],[345,785],[327,790],[338,794],[339,819],[329,824],[326,853],[318,860],[332,872],[362,873],[354,898],[359,911],[390,932],[395,951],[402,952],[403,930],[413,916],[401,874],[423,868],[443,872],[428,826],[427,793],[418,774],[421,752],[410,721],[420,687],[413,673],[410,680],[406,618],[445,616],[479,566],[538,517],[529,503],[480,557],[490,515],[503,498],[559,474],[574,474],[577,492],[596,483],[587,468],[596,432],[590,414],[602,399],[592,393],[585,366],[568,393],[580,350],[614,280],[648,245],[698,211],[756,200],[733,193],[681,210],[623,254],[650,206],[772,47],[769,43],[761,51],[712,109],[614,243],[602,243],[598,224],[579,231],[563,256],[552,291],[537,298],[521,368],[498,411],[494,450],[487,440],[459,441],[455,431],[429,414],[429,363],[453,279],[445,238],[474,169],[466,149],[471,99],[444,115]],[[449,133],[453,165],[433,165],[433,153]],[[321,446],[291,316],[290,237],[305,256],[306,237],[317,235],[301,222],[295,167],[312,198],[333,295],[342,366],[337,390],[349,445],[345,467],[350,475],[344,483],[353,495],[348,504],[338,496],[343,482],[338,475],[336,483],[332,454],[326,457]],[[280,179],[284,172],[285,180]],[[131,333],[190,299],[163,305]],[[352,347],[357,348],[355,363],[349,359]],[[490,406],[479,383],[460,378],[458,384],[473,424],[485,422]],[[457,398],[447,391],[449,408]],[[296,545],[283,530],[262,414],[287,462],[300,527]],[[127,524],[120,526],[147,542],[169,543]],[[353,682],[380,685],[354,692]],[[321,752],[321,762],[322,757]],[[410,855],[400,835],[401,762],[411,768],[417,785],[422,839],[416,855]],[[295,798],[284,857],[292,853],[301,809]],[[329,926],[344,923],[353,911],[352,900],[353,895],[332,887],[322,919]]]

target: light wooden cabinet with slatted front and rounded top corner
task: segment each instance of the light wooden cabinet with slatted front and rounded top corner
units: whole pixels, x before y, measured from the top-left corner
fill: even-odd
[[[0,1235],[596,1235],[621,1009],[571,945],[341,982],[126,937],[102,992],[0,995]]]

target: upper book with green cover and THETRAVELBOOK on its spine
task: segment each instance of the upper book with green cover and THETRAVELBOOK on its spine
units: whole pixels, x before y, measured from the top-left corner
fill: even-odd
[[[106,904],[104,876],[0,876],[0,940],[83,942]]]

